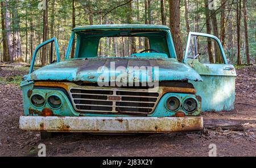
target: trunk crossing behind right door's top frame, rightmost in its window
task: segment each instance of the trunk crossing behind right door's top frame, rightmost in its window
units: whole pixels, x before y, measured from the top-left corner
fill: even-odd
[[[218,37],[217,18],[216,18],[216,12],[214,10],[212,10],[212,28],[213,28],[213,35]],[[217,43],[214,43],[214,54],[215,54],[215,62],[221,63],[220,49]]]

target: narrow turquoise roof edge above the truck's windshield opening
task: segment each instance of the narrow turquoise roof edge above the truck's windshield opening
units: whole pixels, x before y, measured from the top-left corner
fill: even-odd
[[[170,30],[169,27],[163,25],[155,24],[98,24],[98,25],[88,25],[88,26],[79,26],[73,28],[72,31],[83,31],[83,30],[138,30],[138,29],[147,29],[147,30]]]

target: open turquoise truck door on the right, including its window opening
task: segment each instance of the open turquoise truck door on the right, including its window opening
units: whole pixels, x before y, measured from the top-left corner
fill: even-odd
[[[183,62],[203,78],[203,82],[189,81],[201,96],[202,111],[234,109],[236,70],[216,36],[189,32]]]

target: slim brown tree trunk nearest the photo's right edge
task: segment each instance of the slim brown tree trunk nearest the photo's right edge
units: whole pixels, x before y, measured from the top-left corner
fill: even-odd
[[[246,53],[246,61],[247,61],[247,64],[250,64],[246,0],[243,0],[243,25],[245,27],[245,53]]]

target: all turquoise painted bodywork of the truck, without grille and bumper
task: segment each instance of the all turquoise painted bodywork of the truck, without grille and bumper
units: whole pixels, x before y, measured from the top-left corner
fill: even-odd
[[[123,57],[123,58],[79,58],[80,51],[76,49],[75,58],[68,59],[69,53],[71,51],[72,42],[74,40],[75,35],[77,35],[77,47],[81,48],[81,41],[82,38],[80,33],[86,30],[134,30],[134,29],[142,29],[142,30],[159,30],[166,32],[166,41],[161,38],[151,38],[151,46],[152,49],[159,49],[164,51],[163,53],[135,53],[136,57]],[[196,95],[194,94],[181,94],[181,93],[166,93],[162,96],[159,100],[158,105],[155,108],[155,111],[148,116],[156,116],[156,117],[163,117],[163,116],[174,116],[175,112],[168,110],[166,107],[166,100],[170,96],[177,96],[181,102],[191,96],[196,98],[196,96],[201,96],[202,102],[199,107],[201,106],[202,111],[220,111],[220,110],[232,110],[234,108],[234,82],[236,78],[235,71],[224,70],[225,68],[233,68],[233,65],[228,65],[225,58],[225,53],[221,47],[220,41],[217,37],[212,35],[207,35],[204,33],[189,33],[188,39],[191,35],[201,35],[212,37],[214,40],[217,41],[219,47],[221,48],[222,58],[225,64],[201,64],[198,60],[194,60],[192,64],[192,60],[187,58],[187,51],[189,42],[186,47],[186,52],[184,56],[183,63],[180,63],[176,60],[176,52],[174,49],[174,43],[172,41],[170,29],[166,26],[152,26],[152,25],[101,25],[101,26],[84,26],[84,27],[77,27],[74,28],[71,34],[71,38],[69,39],[69,44],[67,48],[67,52],[65,54],[65,60],[59,62],[59,51],[57,47],[57,40],[52,38],[50,40],[45,41],[44,43],[40,44],[36,49],[32,57],[30,74],[24,76],[24,81],[21,83],[22,91],[23,91],[23,104],[24,104],[24,115],[30,115],[29,109],[42,111],[43,108],[36,108],[31,105],[30,97],[27,96],[29,90],[32,90],[32,94],[41,94],[46,99],[50,95],[57,95],[63,100],[63,105],[56,110],[53,110],[53,114],[57,116],[131,116],[131,115],[117,115],[117,114],[86,114],[82,113],[79,114],[76,112],[67,96],[59,90],[51,90],[51,89],[33,89],[34,81],[87,81],[87,82],[97,82],[98,77],[100,77],[100,73],[97,72],[97,66],[92,66],[95,62],[102,65],[108,65],[110,61],[114,62],[122,62],[126,61],[125,64],[121,64],[125,66],[127,72],[129,72],[129,68],[127,65],[130,66],[137,66],[140,65],[143,61],[145,64],[153,65],[153,72],[154,75],[152,79],[155,81],[158,79],[159,81],[186,81],[188,80],[191,82],[196,90]],[[89,35],[88,35],[89,37]],[[150,38],[150,36],[148,36]],[[96,38],[97,39],[97,38]],[[164,43],[167,43],[167,49],[159,43],[159,40],[163,40]],[[38,52],[39,48],[43,45],[51,43],[51,41],[55,42],[56,48],[56,56],[57,56],[57,63],[44,66],[38,70],[33,72],[34,62],[36,52]],[[188,40],[190,41],[190,40]],[[97,44],[98,40],[96,40]],[[88,54],[86,51],[89,50],[90,47],[93,47],[93,51],[89,53],[89,56],[95,56],[96,54],[96,45],[90,45],[89,43],[85,43],[88,49],[84,49],[82,54]],[[138,64],[137,64],[138,62]],[[88,67],[92,66],[90,69]],[[157,76],[156,66],[159,67],[159,75]],[[192,67],[191,67],[192,66]],[[105,74],[109,74],[110,72],[106,72]],[[138,73],[138,72],[135,72]],[[119,75],[120,73],[116,72],[115,76]],[[94,75],[94,79],[89,79],[89,75]],[[133,75],[133,74],[132,74]],[[108,82],[109,78],[106,78]],[[143,82],[140,78],[140,82]],[[203,81],[203,82],[198,82]],[[228,89],[227,89],[228,88]],[[218,101],[221,100],[221,101]],[[48,107],[48,104],[44,107]],[[182,107],[179,110],[182,111]],[[200,108],[194,112],[193,114],[188,114],[185,112],[186,115],[199,115]],[[33,114],[36,115],[36,114]]]

